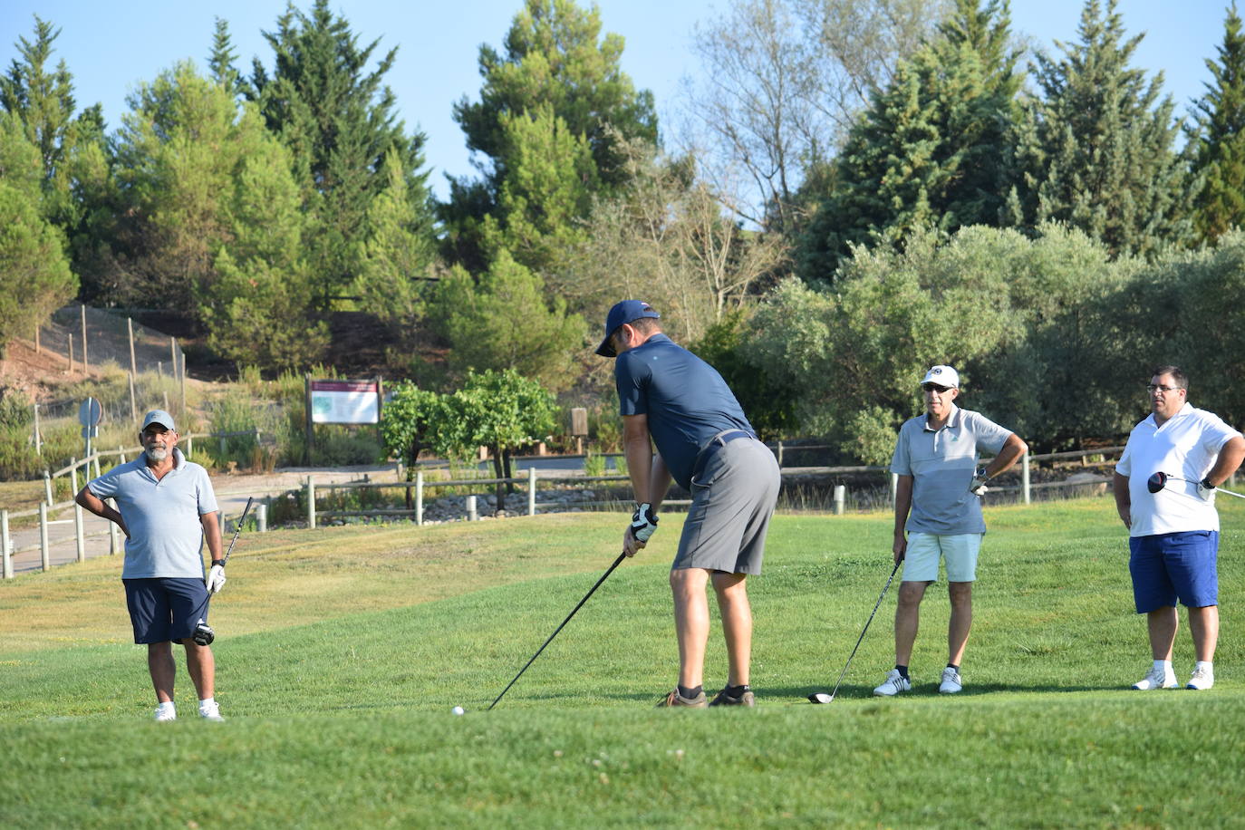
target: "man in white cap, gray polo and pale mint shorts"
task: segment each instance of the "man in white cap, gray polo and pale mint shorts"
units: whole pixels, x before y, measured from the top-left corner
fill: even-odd
[[[937,580],[939,559],[946,560],[951,621],[947,662],[939,692],[964,688],[960,661],[972,626],[972,582],[986,523],[981,495],[986,480],[1008,469],[1028,452],[1020,437],[985,416],[955,406],[960,376],[950,366],[935,366],[921,381],[925,414],[899,429],[890,472],[895,489],[895,564],[904,562],[895,606],[895,668],[873,691],[893,697],[913,688],[908,663],[916,641],[925,589]],[[989,467],[977,465],[977,453],[995,454]],[[906,531],[906,535],[905,535]]]

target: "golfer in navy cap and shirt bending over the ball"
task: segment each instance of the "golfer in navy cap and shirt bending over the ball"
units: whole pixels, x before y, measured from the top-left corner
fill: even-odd
[[[657,312],[624,300],[605,321],[596,353],[618,357],[614,378],[636,510],[622,536],[634,556],[657,526],[670,479],[692,494],[670,571],[679,636],[679,686],[659,706],[753,706],[748,687],[752,610],[746,580],[761,572],[766,530],[778,500],[773,453],[757,441],[735,394],[708,363],[661,333]],[[657,445],[652,454],[650,437]],[[726,687],[706,703],[706,586],[712,581],[726,635]]]

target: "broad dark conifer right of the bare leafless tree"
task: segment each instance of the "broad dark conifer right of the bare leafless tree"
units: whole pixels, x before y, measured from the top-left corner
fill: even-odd
[[[801,240],[806,280],[829,280],[853,244],[933,225],[997,224],[1021,76],[1006,0],[957,0],[852,129]]]

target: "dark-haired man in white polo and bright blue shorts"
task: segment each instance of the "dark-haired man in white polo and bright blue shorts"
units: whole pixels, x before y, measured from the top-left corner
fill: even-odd
[[[1215,683],[1219,642],[1219,513],[1215,487],[1245,458],[1245,438],[1219,416],[1189,404],[1189,378],[1175,366],[1154,370],[1150,414],[1133,427],[1116,464],[1116,509],[1128,528],[1133,601],[1147,617],[1154,666],[1134,689],[1175,688],[1172,648],[1175,604],[1189,610],[1196,663],[1186,688]],[[1148,480],[1167,473],[1150,493]]]

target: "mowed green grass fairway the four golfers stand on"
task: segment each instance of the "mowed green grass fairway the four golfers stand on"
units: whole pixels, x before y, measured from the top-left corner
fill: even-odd
[[[120,561],[0,584],[0,826],[1243,826],[1245,506],[1220,499],[1208,692],[1149,666],[1109,498],[987,509],[964,693],[936,693],[945,584],[916,688],[883,701],[889,515],[778,515],[752,711],[659,711],[681,518],[505,687],[619,551],[620,514],[244,535],[213,604],[223,724],[151,720]],[[712,607],[712,604],[711,604]],[[1193,667],[1182,613],[1177,671]],[[710,640],[710,693],[726,672]],[[451,707],[467,709],[463,717]]]

